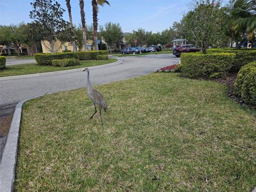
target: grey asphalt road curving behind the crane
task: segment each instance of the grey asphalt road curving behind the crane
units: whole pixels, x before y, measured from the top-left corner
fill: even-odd
[[[157,68],[178,63],[172,54],[122,57],[123,63],[90,70],[92,84],[104,84],[153,73]],[[81,71],[20,79],[0,78],[0,105],[18,103],[24,99],[59,91],[85,87],[85,73]]]

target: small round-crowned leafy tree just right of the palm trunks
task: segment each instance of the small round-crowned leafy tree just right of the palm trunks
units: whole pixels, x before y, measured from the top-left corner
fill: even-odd
[[[101,32],[101,34],[110,47],[115,43],[119,43],[122,39],[122,29],[119,23],[107,22],[105,24],[105,29]]]

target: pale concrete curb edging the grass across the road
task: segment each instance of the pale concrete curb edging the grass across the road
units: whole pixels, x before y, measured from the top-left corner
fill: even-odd
[[[93,67],[88,67],[89,69],[98,69],[102,67],[109,67],[117,64],[121,64],[123,61],[122,60],[117,60],[116,62],[113,63],[108,63],[105,65],[100,65],[100,66],[93,66]],[[61,70],[61,71],[52,71],[52,72],[46,72],[46,73],[37,73],[37,74],[28,74],[28,75],[17,75],[17,76],[9,76],[9,77],[0,77],[0,81],[4,80],[11,80],[11,79],[19,79],[19,78],[28,78],[28,77],[38,77],[38,76],[46,76],[46,75],[55,75],[55,74],[64,74],[64,73],[71,73],[75,71],[81,71],[82,68],[77,68],[77,69],[68,69],[68,70]]]

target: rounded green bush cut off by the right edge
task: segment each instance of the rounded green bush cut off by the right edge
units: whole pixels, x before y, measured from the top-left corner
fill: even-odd
[[[245,102],[256,105],[256,61],[239,70],[235,82],[235,93]]]

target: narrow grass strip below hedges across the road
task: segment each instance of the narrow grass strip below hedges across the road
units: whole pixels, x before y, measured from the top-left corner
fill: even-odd
[[[51,71],[91,67],[91,66],[103,65],[103,64],[107,64],[115,61],[117,61],[117,59],[88,60],[88,61],[81,61],[81,65],[79,66],[71,66],[71,67],[39,66],[36,63],[12,65],[12,66],[6,66],[4,70],[0,70],[0,77],[14,76],[14,75],[27,75],[27,74],[36,74],[36,73],[45,73],[45,72],[51,72]]]

